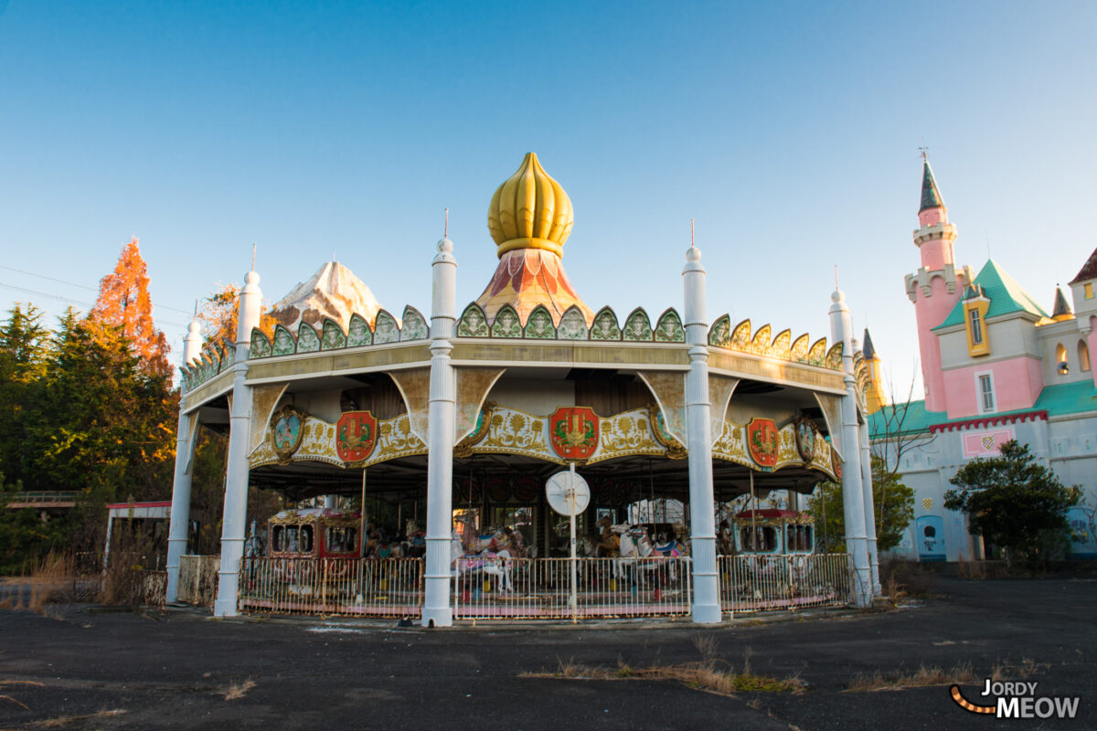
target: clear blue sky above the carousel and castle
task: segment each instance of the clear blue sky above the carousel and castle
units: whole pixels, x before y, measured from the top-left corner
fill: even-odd
[[[252,243],[271,301],[335,252],[428,312],[449,207],[474,299],[488,202],[528,150],[572,197],[591,307],[680,307],[695,218],[710,320],[826,335],[837,264],[904,391],[923,140],[960,263],[989,245],[1050,310],[1097,244],[1095,3],[0,9],[2,304],[92,301],[34,275],[93,288],[136,235],[177,355],[178,310],[240,281]]]

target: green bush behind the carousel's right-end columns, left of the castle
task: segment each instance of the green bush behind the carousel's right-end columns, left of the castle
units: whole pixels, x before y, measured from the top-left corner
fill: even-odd
[[[898,475],[889,472],[880,457],[872,456],[872,504],[877,516],[877,550],[895,546],[914,518],[914,490],[903,484]],[[825,551],[846,549],[846,513],[841,486],[821,482],[807,504],[815,517],[816,540]]]

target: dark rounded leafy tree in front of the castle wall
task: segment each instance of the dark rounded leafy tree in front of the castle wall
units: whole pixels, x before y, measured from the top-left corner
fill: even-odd
[[[1081,491],[1067,488],[1036,461],[1028,445],[1002,445],[997,457],[976,458],[950,480],[945,507],[968,514],[968,529],[1006,549],[1007,561],[1047,563],[1070,541],[1066,511]]]

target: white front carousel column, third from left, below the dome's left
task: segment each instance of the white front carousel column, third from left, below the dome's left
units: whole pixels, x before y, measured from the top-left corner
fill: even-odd
[[[430,315],[430,409],[427,429],[427,583],[423,627],[453,624],[450,606],[450,534],[453,525],[453,436],[456,377],[450,362],[456,321],[457,260],[453,242],[438,242]]]

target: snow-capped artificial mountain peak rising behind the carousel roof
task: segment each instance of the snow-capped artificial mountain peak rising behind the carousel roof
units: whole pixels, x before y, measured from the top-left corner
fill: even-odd
[[[380,309],[370,287],[353,272],[339,262],[327,262],[307,282],[298,283],[274,302],[271,317],[290,332],[296,332],[302,322],[320,328],[324,318],[331,318],[346,332],[351,315],[358,313],[372,328]]]

